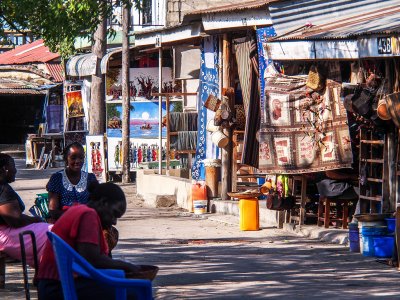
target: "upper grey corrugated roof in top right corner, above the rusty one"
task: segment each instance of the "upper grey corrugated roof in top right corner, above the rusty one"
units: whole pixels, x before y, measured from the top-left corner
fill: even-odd
[[[369,15],[382,9],[394,9],[398,6],[399,0],[298,0],[271,2],[268,7],[274,29],[277,35],[281,36],[301,28],[307,23],[321,26],[329,21],[332,26],[331,30],[333,30],[335,24],[344,19],[352,20],[358,16]],[[384,18],[385,22],[399,22],[399,19]],[[343,28],[342,36],[345,36],[345,32],[349,29],[352,29],[356,34],[361,34],[366,29],[379,32],[379,30],[396,28],[396,25],[393,26],[390,23],[385,26],[383,21],[379,22],[379,18],[375,19],[374,26],[377,26],[375,29],[369,25],[370,22],[370,20],[360,22],[357,28],[353,27],[355,25],[348,25],[346,28],[343,25],[338,25],[338,27],[342,26]]]

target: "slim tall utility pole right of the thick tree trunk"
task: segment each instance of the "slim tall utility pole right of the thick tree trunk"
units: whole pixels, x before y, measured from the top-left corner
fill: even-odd
[[[122,182],[128,183],[129,178],[129,123],[130,123],[130,92],[129,92],[129,19],[131,6],[123,4],[122,8]]]

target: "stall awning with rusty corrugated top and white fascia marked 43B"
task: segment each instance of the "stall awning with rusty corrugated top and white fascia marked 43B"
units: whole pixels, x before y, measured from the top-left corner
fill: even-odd
[[[400,56],[399,35],[400,7],[389,6],[352,17],[343,13],[333,21],[272,38],[268,54],[275,60]]]

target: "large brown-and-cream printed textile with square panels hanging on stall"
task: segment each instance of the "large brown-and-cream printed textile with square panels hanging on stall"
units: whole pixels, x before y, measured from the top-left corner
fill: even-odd
[[[324,94],[306,88],[307,76],[268,67],[260,129],[260,169],[301,174],[350,168],[353,161],[341,84],[327,80]]]

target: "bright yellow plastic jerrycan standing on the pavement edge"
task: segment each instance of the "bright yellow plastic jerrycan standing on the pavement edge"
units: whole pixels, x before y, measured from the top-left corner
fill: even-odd
[[[240,230],[251,231],[260,229],[260,213],[257,198],[240,199]]]

